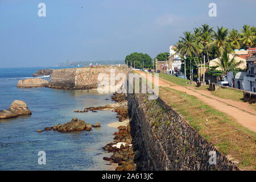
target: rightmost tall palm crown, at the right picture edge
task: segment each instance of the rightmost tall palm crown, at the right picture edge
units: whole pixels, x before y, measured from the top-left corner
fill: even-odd
[[[244,46],[250,48],[254,45],[255,40],[255,32],[254,27],[250,27],[249,25],[245,24],[243,29],[241,29],[241,41]]]

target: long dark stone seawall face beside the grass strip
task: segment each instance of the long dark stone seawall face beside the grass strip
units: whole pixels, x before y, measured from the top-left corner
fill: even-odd
[[[239,170],[161,98],[128,94],[127,100],[139,170]],[[217,165],[209,164],[213,150]]]

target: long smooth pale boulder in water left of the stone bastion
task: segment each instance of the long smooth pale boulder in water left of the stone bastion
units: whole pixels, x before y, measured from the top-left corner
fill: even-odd
[[[42,78],[29,78],[26,80],[19,80],[17,87],[31,88],[36,86],[48,86],[49,82]]]

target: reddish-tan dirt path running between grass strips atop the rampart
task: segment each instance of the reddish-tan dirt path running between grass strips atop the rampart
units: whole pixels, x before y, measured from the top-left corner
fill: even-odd
[[[144,73],[142,71],[135,71],[137,73]],[[144,74],[142,74],[144,76]],[[170,86],[173,85],[173,86]],[[250,129],[251,131],[256,132],[256,112],[250,109],[249,105],[243,102],[237,102],[232,100],[226,100],[219,97],[215,97],[209,95],[209,93],[202,92],[204,90],[195,90],[189,87],[186,88],[185,86],[179,86],[172,82],[163,80],[159,78],[159,86],[167,86],[175,90],[179,90],[181,92],[185,92],[189,95],[195,96],[199,98],[200,101],[204,102],[205,104],[212,106],[214,109],[222,111],[233,117],[237,123],[240,123],[243,127]]]

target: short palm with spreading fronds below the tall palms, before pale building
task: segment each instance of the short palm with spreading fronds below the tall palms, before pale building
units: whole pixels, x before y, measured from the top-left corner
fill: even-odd
[[[215,63],[218,65],[218,67],[221,68],[222,73],[226,73],[242,63],[241,60],[236,62],[235,57],[236,55],[234,55],[233,58],[229,60],[229,53],[225,50],[220,57],[220,62],[215,61]]]

